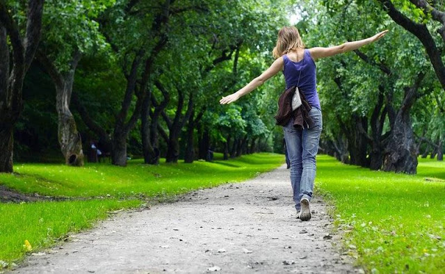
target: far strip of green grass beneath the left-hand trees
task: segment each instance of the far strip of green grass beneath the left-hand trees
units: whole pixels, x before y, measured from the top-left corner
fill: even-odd
[[[109,163],[86,163],[82,168],[54,163],[23,163],[15,165],[12,175],[1,173],[0,184],[22,193],[51,196],[159,196],[225,182],[241,182],[283,162],[282,154],[259,153],[230,161],[161,163],[159,166],[145,165],[142,159],[136,159],[129,161],[126,168]]]

